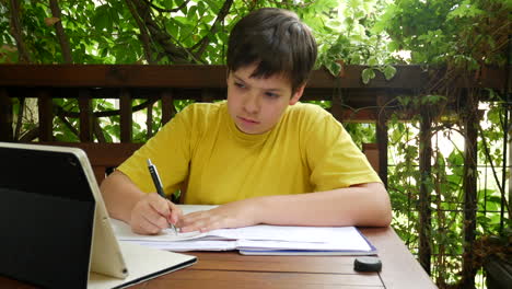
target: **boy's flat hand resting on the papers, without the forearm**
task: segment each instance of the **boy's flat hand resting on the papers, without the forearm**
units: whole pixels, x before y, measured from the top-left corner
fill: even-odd
[[[216,229],[241,228],[259,223],[257,198],[233,201],[207,211],[183,216],[177,226],[181,232],[208,232]]]

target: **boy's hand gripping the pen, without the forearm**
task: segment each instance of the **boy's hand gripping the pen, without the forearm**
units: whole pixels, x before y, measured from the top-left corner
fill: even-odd
[[[182,209],[156,193],[147,194],[133,207],[130,227],[133,233],[158,234],[176,223],[183,216]]]

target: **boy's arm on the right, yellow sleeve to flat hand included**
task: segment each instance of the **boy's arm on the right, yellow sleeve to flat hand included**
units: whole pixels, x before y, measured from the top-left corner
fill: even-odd
[[[313,106],[309,106],[312,108]],[[209,231],[258,223],[282,226],[386,227],[392,220],[387,192],[348,132],[314,106],[301,124],[298,143],[311,170],[315,193],[254,197],[184,216],[178,227]]]

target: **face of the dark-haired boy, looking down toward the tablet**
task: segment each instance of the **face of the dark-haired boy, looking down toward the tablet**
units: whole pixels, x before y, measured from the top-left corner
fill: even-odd
[[[228,111],[236,127],[248,135],[270,130],[304,91],[303,85],[292,95],[291,83],[282,76],[251,78],[255,69],[256,65],[251,65],[228,76]]]

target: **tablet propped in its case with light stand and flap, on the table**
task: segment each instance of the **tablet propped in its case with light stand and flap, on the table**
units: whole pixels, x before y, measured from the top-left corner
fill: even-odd
[[[44,288],[123,288],[195,256],[119,244],[85,153],[0,142],[0,275]]]

